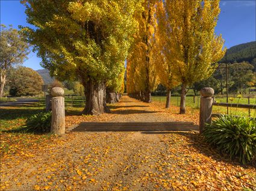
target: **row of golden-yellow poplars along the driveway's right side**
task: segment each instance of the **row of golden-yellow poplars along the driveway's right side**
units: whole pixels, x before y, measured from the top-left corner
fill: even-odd
[[[214,33],[219,1],[145,0],[142,4],[144,10],[136,17],[141,31],[127,62],[128,94],[150,102],[150,93],[161,83],[167,89],[169,108],[171,90],[180,85],[180,114],[184,114],[187,88],[208,79],[225,53],[221,35]]]

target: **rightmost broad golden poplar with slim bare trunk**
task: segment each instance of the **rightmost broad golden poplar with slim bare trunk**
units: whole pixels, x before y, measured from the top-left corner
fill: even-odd
[[[181,83],[180,114],[186,112],[187,86],[210,77],[225,54],[222,36],[214,33],[219,13],[219,0],[158,2],[158,25],[166,41],[163,54]]]

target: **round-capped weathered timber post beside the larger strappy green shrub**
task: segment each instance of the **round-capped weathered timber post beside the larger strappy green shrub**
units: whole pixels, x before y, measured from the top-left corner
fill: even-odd
[[[202,88],[200,94],[199,133],[201,134],[204,131],[205,123],[211,123],[214,90],[213,88]]]

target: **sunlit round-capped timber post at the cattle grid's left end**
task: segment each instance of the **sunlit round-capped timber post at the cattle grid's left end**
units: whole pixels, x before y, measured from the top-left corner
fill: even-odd
[[[54,87],[51,89],[52,96],[52,124],[51,133],[61,135],[65,133],[65,105],[64,89]]]

